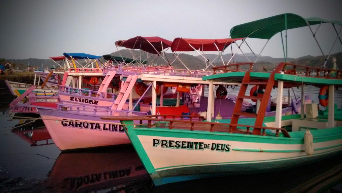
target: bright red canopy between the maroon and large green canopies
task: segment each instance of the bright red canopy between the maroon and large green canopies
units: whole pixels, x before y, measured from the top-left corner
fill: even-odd
[[[236,38],[236,40],[240,40],[244,38]],[[226,47],[232,44],[234,41],[232,38],[225,39],[190,39],[190,38],[175,38],[171,44],[172,51],[194,51],[192,47],[196,50],[203,51],[218,51],[216,46],[220,51],[223,51]],[[216,44],[216,46],[214,45]],[[192,47],[191,47],[191,46]]]

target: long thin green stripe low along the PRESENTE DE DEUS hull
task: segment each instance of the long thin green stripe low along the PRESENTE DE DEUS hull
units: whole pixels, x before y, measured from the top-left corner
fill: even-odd
[[[334,149],[334,150],[330,150],[328,152],[322,152],[322,153],[317,153],[317,154],[313,154],[313,155],[327,154],[327,153],[330,153],[330,152],[336,152],[336,151],[341,150],[341,149],[342,148]],[[254,160],[254,161],[231,161],[231,162],[207,163],[207,164],[189,164],[189,165],[179,165],[179,166],[168,166],[168,167],[163,167],[163,168],[156,168],[155,170],[157,171],[157,170],[161,170],[161,169],[176,168],[176,167],[186,167],[186,166],[221,165],[221,164],[235,164],[235,163],[241,163],[241,164],[246,163],[247,164],[247,163],[252,163],[252,162],[279,161],[279,160],[289,160],[289,159],[293,159],[293,158],[303,158],[303,157],[307,157],[307,156],[304,155],[304,156],[295,156],[295,157],[288,157],[288,158]]]

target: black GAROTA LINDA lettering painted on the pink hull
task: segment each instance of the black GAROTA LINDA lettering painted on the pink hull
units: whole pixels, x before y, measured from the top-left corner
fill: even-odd
[[[73,127],[80,129],[91,129],[91,130],[103,130],[103,131],[114,131],[124,132],[122,125],[106,124],[106,123],[92,123],[92,122],[81,122],[78,120],[62,119],[61,124],[63,127]]]

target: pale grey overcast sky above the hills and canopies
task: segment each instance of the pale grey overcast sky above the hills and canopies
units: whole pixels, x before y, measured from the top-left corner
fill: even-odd
[[[342,21],[340,0],[1,0],[0,8],[0,58],[6,59],[47,59],[63,52],[104,55],[117,50],[115,41],[135,36],[228,38],[235,25],[282,13]],[[336,37],[331,24],[320,26],[316,38],[324,54]],[[266,40],[247,43],[259,54]],[[241,49],[250,52],[246,45]],[[331,52],[341,51],[337,40]],[[284,57],[280,34],[262,55]],[[306,55],[321,55],[310,29],[288,30],[288,57]]]

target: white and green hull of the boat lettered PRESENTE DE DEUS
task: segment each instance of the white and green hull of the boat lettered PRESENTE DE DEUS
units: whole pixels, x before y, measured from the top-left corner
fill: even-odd
[[[314,137],[315,150],[311,157],[304,151],[303,137],[129,126],[127,133],[155,185],[162,185],[199,178],[283,170],[325,159],[341,153],[341,130],[338,135]],[[176,147],[177,141],[180,145]],[[170,147],[170,142],[173,147]],[[184,148],[182,142],[185,143]],[[198,143],[197,148],[195,145],[188,146],[188,143]],[[199,144],[202,144],[201,147]]]

